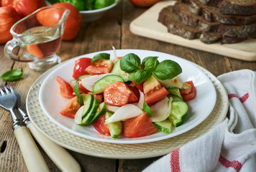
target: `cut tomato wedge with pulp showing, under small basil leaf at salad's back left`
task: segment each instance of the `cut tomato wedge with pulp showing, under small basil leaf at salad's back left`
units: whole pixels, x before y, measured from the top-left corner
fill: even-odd
[[[91,75],[101,75],[110,73],[114,63],[109,59],[96,59],[91,66],[86,68],[86,72]]]

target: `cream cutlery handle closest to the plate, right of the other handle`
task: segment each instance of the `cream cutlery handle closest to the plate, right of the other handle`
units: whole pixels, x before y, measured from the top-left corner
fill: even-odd
[[[41,145],[45,153],[47,153],[47,155],[52,159],[56,166],[60,168],[61,171],[81,171],[81,166],[79,163],[75,158],[73,158],[73,156],[70,155],[70,153],[68,153],[68,151],[65,150],[65,148],[45,137],[45,135],[40,133],[32,123],[28,123],[27,128],[29,128],[30,132],[37,140],[37,143]]]

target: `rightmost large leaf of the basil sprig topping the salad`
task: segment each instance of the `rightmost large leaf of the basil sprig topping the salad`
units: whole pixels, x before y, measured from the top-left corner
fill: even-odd
[[[179,75],[181,72],[182,69],[177,62],[170,59],[165,59],[163,62],[160,62],[157,65],[152,73],[159,80],[170,80]]]

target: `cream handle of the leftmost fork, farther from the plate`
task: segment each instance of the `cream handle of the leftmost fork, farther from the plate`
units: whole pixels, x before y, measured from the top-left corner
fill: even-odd
[[[44,158],[42,157],[35,141],[25,126],[20,126],[14,130],[19,148],[27,166],[28,171],[49,171]]]

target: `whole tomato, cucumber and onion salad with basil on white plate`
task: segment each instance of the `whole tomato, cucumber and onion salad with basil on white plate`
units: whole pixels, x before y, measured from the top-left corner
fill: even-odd
[[[102,135],[138,138],[160,130],[170,134],[184,123],[187,101],[196,97],[192,81],[180,80],[177,62],[136,54],[110,59],[96,54],[76,60],[73,80],[57,77],[60,95],[70,99],[61,115],[77,125],[93,125]]]

